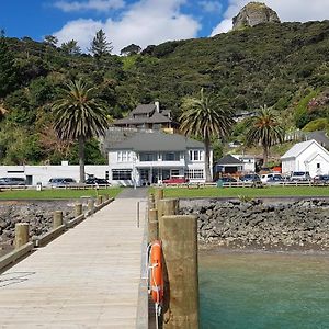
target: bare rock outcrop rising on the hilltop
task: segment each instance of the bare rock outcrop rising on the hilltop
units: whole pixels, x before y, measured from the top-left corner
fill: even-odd
[[[262,2],[249,2],[232,19],[234,30],[261,23],[280,23],[277,13]]]

